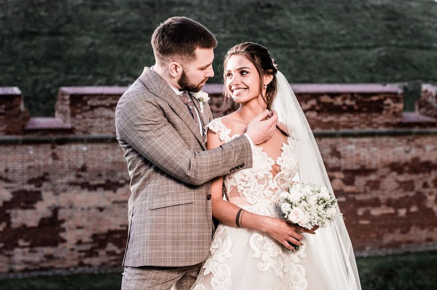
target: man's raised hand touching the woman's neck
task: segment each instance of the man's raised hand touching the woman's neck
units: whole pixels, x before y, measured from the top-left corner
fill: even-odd
[[[264,120],[266,117],[268,119]],[[269,110],[265,110],[253,118],[247,126],[246,133],[252,139],[254,145],[261,144],[273,136],[277,121],[278,113],[276,111],[270,113]]]

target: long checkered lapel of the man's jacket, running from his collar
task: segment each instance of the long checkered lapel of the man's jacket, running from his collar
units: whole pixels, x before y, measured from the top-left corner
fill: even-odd
[[[202,148],[206,149],[205,141],[199,132],[199,126],[196,125],[185,104],[178,98],[168,83],[149,67],[144,68],[144,71],[139,79],[153,95],[162,98],[168,103],[168,105],[170,105],[173,111],[182,119],[182,121],[184,121],[188,129],[190,129],[190,131],[194,134],[196,139],[202,145]],[[193,103],[195,103],[195,101],[193,101]],[[199,104],[196,106],[199,106]]]

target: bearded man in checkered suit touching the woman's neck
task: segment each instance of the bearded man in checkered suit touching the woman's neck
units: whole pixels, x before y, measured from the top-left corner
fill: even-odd
[[[171,17],[153,32],[155,65],[123,94],[117,139],[131,177],[122,290],[189,289],[213,234],[210,180],[252,167],[252,146],[268,140],[277,115],[256,117],[247,133],[206,150],[213,118],[199,92],[214,76],[217,40],[202,24]]]

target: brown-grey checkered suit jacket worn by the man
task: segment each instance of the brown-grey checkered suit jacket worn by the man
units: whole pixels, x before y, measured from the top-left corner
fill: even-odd
[[[201,113],[199,103],[193,103],[205,126],[213,118],[211,110],[204,104]],[[238,165],[252,167],[249,140],[243,135],[206,150],[186,106],[148,67],[121,96],[115,120],[132,192],[123,265],[202,262],[213,233],[210,180]]]

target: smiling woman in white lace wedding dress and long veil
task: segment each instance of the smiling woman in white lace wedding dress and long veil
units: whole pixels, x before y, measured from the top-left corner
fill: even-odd
[[[212,212],[220,224],[192,289],[360,290],[352,244],[340,215],[326,228],[308,230],[281,219],[275,206],[291,181],[332,189],[286,78],[267,48],[251,42],[231,48],[223,67],[225,96],[239,108],[206,126],[208,149],[244,134],[263,110],[276,110],[280,122],[271,139],[252,148],[253,168],[213,179]]]

